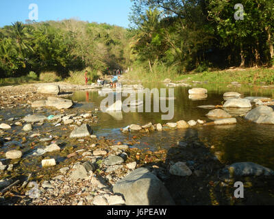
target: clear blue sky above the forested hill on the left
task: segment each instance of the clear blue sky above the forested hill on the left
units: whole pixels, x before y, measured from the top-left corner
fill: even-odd
[[[128,27],[132,5],[130,0],[0,0],[0,27],[15,21],[25,23],[31,3],[38,5],[38,22],[78,18],[121,27]]]

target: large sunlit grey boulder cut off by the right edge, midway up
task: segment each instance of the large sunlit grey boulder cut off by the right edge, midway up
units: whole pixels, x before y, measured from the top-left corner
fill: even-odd
[[[251,110],[245,118],[258,124],[274,124],[274,112],[271,107],[260,105]]]

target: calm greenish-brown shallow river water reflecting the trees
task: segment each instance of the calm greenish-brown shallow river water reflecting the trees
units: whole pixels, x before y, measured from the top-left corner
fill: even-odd
[[[164,84],[144,83],[145,88],[166,88]],[[273,97],[274,90],[263,88],[251,88],[249,86],[227,88],[227,84],[197,84],[193,87],[207,88],[208,98],[194,101],[188,98],[189,87],[174,88],[174,117],[172,120],[162,120],[162,112],[129,112],[110,115],[99,112],[99,124],[92,127],[97,136],[106,136],[116,141],[128,139],[128,134],[121,132],[121,128],[127,125],[146,123],[170,123],[178,120],[207,120],[205,115],[210,110],[200,109],[199,105],[222,105],[223,93],[228,91],[240,92],[243,96],[267,96]],[[99,90],[75,92],[71,99],[77,101],[85,108],[99,108],[106,96],[101,96]],[[126,97],[123,97],[126,99]],[[151,100],[151,102],[153,99]],[[147,103],[144,103],[144,107]],[[169,149],[184,140],[186,136],[197,135],[204,144],[214,146],[221,160],[227,164],[234,162],[255,162],[257,164],[274,168],[274,125],[257,125],[250,123],[242,117],[237,117],[237,125],[195,127],[186,130],[166,130],[162,132],[144,133],[140,138],[139,148]],[[134,135],[134,133],[129,133]]]

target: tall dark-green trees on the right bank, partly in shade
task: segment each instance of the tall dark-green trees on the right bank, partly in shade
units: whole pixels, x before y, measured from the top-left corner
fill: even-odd
[[[209,67],[272,66],[274,1],[132,0],[132,53],[180,72]],[[241,13],[234,9],[243,6]]]

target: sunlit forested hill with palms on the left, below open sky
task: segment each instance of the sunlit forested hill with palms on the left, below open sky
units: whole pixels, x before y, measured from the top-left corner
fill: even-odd
[[[16,22],[0,29],[0,77],[51,70],[66,76],[85,67],[101,72],[127,68],[128,41],[125,28],[105,23]]]

